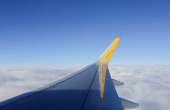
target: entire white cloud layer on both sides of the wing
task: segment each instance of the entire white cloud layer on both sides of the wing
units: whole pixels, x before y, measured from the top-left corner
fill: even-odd
[[[0,65],[0,101],[65,77],[86,65]],[[167,110],[170,103],[170,65],[109,65],[120,97],[137,102],[133,110]]]

